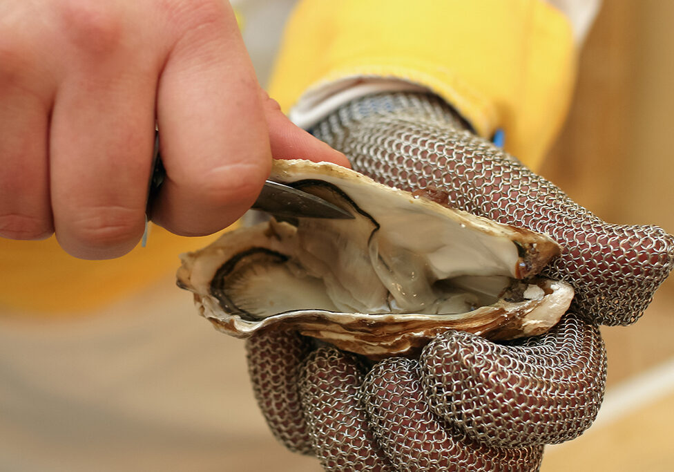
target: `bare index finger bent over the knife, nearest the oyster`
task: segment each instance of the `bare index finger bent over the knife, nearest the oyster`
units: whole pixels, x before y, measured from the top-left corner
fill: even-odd
[[[171,232],[233,223],[271,169],[257,79],[229,3],[200,2],[160,77],[157,123],[166,180],[152,209]]]

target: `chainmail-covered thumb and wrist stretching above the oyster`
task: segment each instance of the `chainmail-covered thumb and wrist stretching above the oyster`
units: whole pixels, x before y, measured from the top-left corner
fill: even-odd
[[[599,324],[630,324],[674,267],[674,237],[658,227],[609,225],[423,94],[370,95],[314,134],[353,169],[401,189],[436,187],[454,207],[550,234],[564,246],[544,272],[577,292],[572,309]]]

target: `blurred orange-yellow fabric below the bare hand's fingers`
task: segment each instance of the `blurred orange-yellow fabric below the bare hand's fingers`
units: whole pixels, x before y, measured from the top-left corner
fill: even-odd
[[[54,236],[44,241],[0,238],[0,316],[6,310],[32,316],[77,316],[95,310],[175,273],[178,254],[213,238],[184,238],[152,227],[147,247],[110,261],[69,256]]]

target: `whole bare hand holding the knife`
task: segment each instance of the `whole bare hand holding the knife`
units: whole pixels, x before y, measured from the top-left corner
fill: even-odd
[[[348,165],[260,89],[222,0],[0,4],[0,236],[56,233],[81,258],[144,232],[155,122],[166,180],[152,219],[216,232],[258,196],[271,158]]]

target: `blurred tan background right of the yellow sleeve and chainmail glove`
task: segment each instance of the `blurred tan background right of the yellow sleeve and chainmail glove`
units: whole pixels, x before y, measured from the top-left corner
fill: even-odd
[[[611,223],[674,233],[674,2],[604,1],[575,100],[543,176]],[[543,472],[671,471],[674,280],[635,325],[602,328],[606,401],[579,439],[548,447]]]

